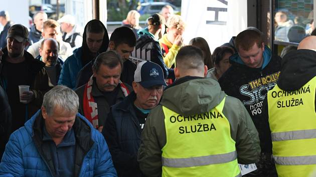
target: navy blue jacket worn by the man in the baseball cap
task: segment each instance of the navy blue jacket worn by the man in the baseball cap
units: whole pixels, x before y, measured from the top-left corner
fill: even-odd
[[[131,92],[114,104],[103,128],[118,176],[141,176],[137,162],[141,128],[133,107],[135,99]]]

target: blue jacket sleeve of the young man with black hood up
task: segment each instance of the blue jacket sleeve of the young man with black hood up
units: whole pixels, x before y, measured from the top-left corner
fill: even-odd
[[[59,85],[66,85],[71,89],[76,88],[77,75],[82,68],[81,57],[82,47],[79,47],[65,60],[58,81]]]

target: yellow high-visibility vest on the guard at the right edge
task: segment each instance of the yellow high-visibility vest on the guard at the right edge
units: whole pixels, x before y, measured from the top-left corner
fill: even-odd
[[[267,93],[272,152],[278,176],[316,170],[316,77],[295,91],[277,85]]]

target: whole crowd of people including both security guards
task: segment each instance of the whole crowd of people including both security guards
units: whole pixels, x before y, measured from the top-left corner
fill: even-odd
[[[109,37],[97,19],[81,33],[41,11],[29,31],[0,11],[0,176],[316,172],[316,36],[280,57],[248,27],[211,53],[184,44],[170,5],[145,28],[139,16]]]

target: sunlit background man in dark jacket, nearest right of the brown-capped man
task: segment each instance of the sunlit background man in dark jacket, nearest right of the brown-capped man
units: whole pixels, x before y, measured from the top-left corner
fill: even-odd
[[[29,33],[30,45],[41,39],[44,21],[46,20],[47,14],[44,11],[38,11],[33,15],[34,25],[31,27]]]

